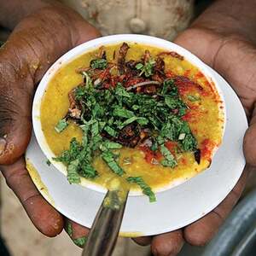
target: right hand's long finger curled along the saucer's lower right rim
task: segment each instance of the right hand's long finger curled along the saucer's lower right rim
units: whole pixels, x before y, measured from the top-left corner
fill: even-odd
[[[194,246],[204,246],[217,233],[218,228],[223,224],[224,219],[229,215],[232,208],[241,196],[245,187],[249,167],[246,167],[239,182],[230,194],[222,201],[218,207],[208,213],[204,218],[199,219],[194,224],[190,224],[183,231],[185,241]]]

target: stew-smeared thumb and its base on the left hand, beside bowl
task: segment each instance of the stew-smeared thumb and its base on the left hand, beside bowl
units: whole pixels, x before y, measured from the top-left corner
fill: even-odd
[[[15,28],[0,49],[0,165],[19,159],[29,143],[34,84],[68,49],[98,36],[62,6],[40,9]]]

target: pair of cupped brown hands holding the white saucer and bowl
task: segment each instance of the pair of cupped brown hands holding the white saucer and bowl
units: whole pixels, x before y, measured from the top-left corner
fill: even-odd
[[[204,26],[201,20],[203,15],[175,43],[224,76],[240,97],[249,122],[243,144],[247,166],[236,187],[204,218],[181,230],[134,239],[141,245],[151,244],[154,255],[176,255],[184,241],[195,246],[210,241],[236,205],[248,172],[256,166],[256,48],[232,30],[218,32],[212,26],[213,17],[207,17]],[[73,10],[49,7],[21,20],[0,49],[0,169],[39,231],[56,236],[64,227],[79,246],[90,230],[65,218],[44,200],[26,171],[24,153],[32,132],[33,94],[45,71],[67,50],[100,36]]]

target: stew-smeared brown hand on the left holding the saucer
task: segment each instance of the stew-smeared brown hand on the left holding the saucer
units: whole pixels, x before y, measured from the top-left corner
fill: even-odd
[[[0,49],[0,169],[32,223],[46,236],[59,234],[64,220],[26,171],[23,155],[32,131],[32,96],[58,57],[99,36],[73,10],[56,4],[22,20]]]

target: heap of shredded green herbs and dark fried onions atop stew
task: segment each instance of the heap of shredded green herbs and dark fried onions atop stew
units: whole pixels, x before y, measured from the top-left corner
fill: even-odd
[[[160,60],[144,57],[134,66],[131,61],[129,66],[122,54],[120,50],[117,67],[123,80],[108,73],[105,57],[90,61],[90,67],[84,69],[86,72],[80,72],[84,84],[73,90],[72,111],[79,114],[74,118],[68,112],[55,126],[55,131],[61,132],[67,128],[68,122],[74,121],[83,131],[81,143],[73,138],[70,148],[55,158],[67,166],[70,183],[79,183],[80,177],[94,179],[99,175],[93,166],[95,157],[102,157],[116,175],[127,175],[119,165],[119,155],[113,150],[139,147],[145,134],[151,140],[148,149],[159,152],[163,158],[155,160],[154,164],[177,166],[176,155],[166,148],[170,141],[177,143],[179,152],[197,150],[195,137],[182,119],[188,106],[180,97],[175,80],[166,78]],[[131,69],[127,77],[134,76],[132,84],[127,84],[129,79],[125,79],[127,68]],[[154,81],[151,78],[154,74],[162,81]],[[97,79],[99,83],[96,83]],[[193,101],[195,97],[188,99]],[[131,160],[124,160],[124,163],[130,165]],[[143,177],[127,177],[126,180],[137,183],[149,200],[155,201],[154,193]]]

